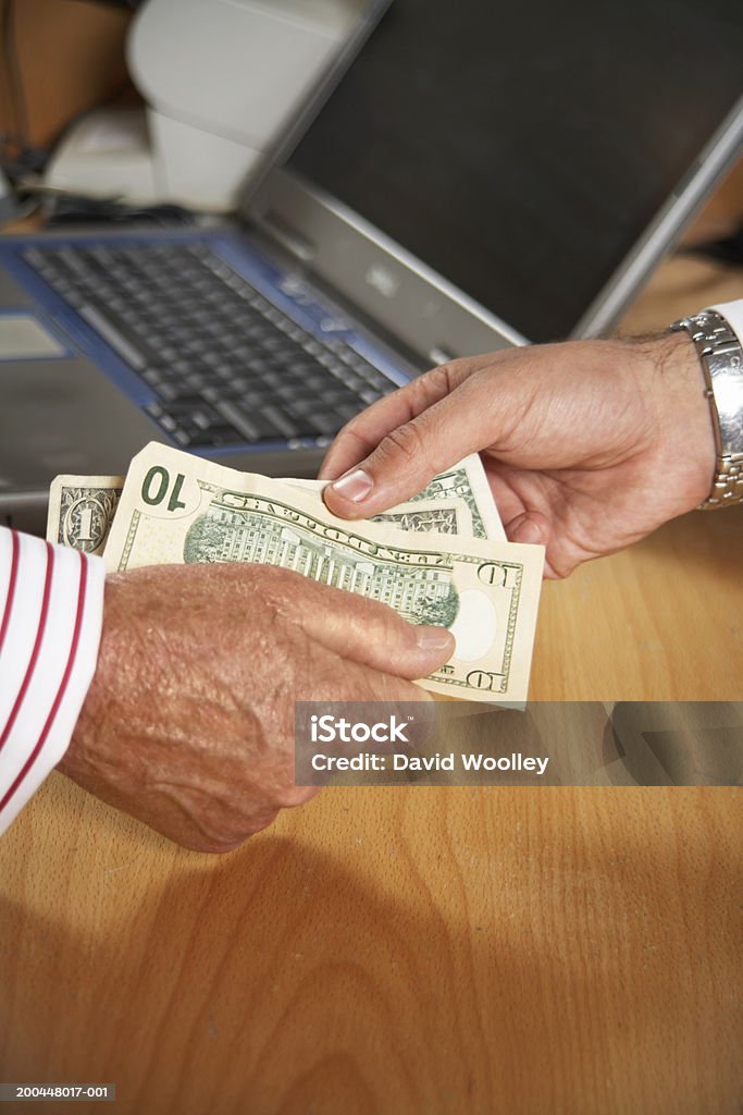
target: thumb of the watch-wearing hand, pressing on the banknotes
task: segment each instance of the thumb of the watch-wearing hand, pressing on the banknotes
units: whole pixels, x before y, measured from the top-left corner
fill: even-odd
[[[492,378],[477,375],[388,433],[323,498],[342,518],[369,518],[422,491],[430,479],[470,453],[497,443],[512,423],[498,408]]]

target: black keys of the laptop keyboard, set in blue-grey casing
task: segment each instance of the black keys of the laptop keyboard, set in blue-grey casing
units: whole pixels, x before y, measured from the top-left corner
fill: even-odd
[[[43,246],[26,262],[149,385],[184,448],[326,444],[397,387],[305,332],[204,244]]]

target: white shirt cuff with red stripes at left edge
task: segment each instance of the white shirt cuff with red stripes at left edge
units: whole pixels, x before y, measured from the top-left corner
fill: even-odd
[[[69,746],[96,670],[105,565],[0,527],[0,833]]]

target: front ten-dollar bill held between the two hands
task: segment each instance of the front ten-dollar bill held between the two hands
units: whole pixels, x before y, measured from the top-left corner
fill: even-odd
[[[331,515],[317,493],[151,443],[129,467],[109,571],[190,562],[294,570],[448,627],[453,658],[421,683],[450,697],[526,700],[544,550],[416,535]]]

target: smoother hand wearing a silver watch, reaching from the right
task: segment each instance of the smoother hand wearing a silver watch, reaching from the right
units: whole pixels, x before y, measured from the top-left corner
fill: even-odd
[[[636,542],[710,492],[710,406],[685,334],[577,341],[454,360],[380,399],[331,446],[330,510],[378,514],[480,452],[512,542],[546,575]]]

